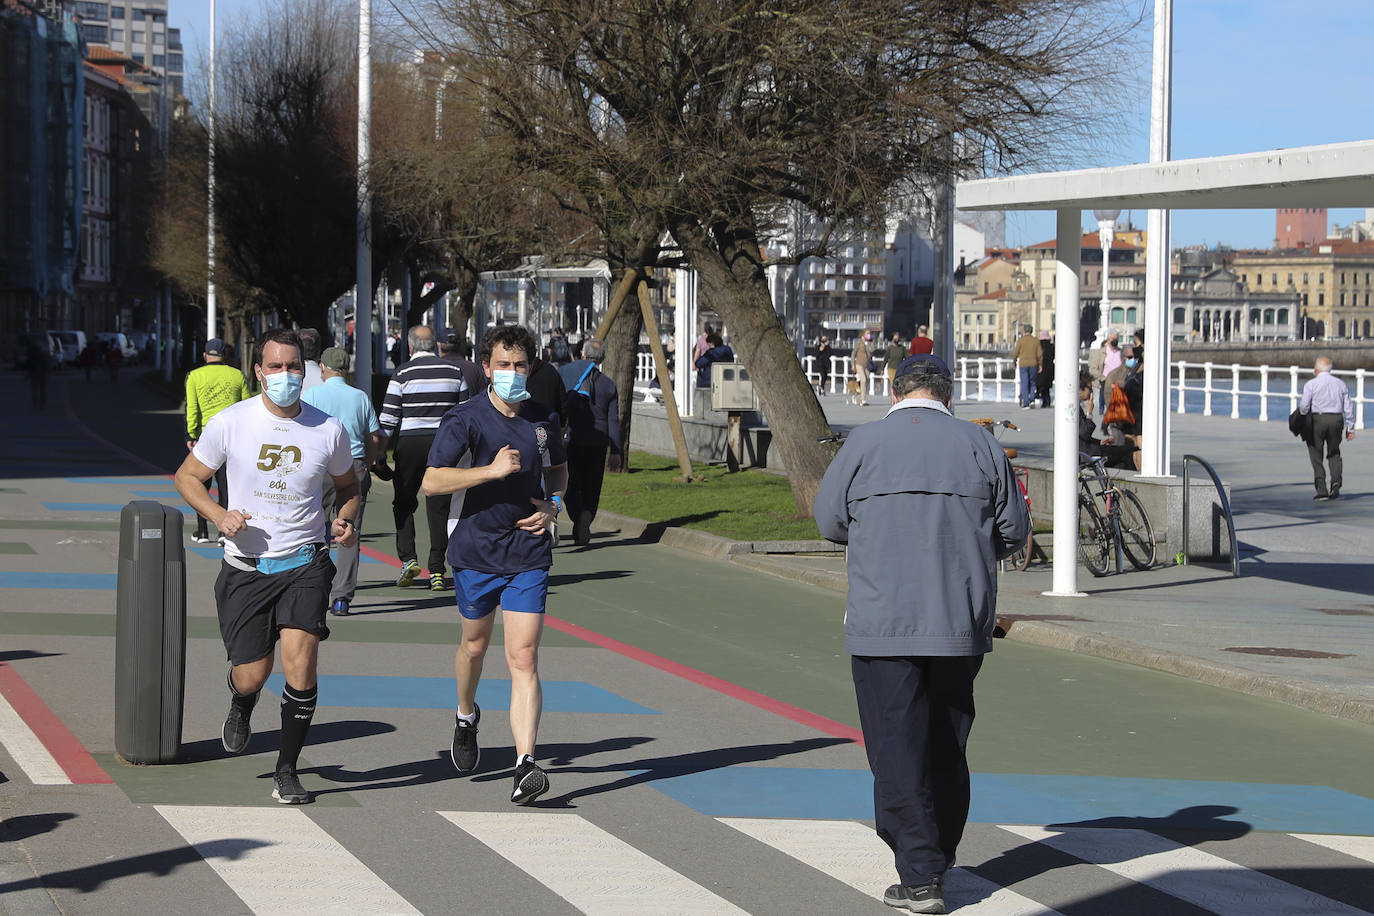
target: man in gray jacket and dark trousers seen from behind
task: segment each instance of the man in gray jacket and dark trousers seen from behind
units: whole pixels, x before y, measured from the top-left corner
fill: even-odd
[[[973,678],[992,651],[999,558],[1030,533],[1011,464],[954,419],[949,367],[897,368],[892,409],[866,423],[816,493],[820,533],[848,544],[845,650],[874,777],[874,820],[899,884],[889,906],[943,913],[969,818]]]

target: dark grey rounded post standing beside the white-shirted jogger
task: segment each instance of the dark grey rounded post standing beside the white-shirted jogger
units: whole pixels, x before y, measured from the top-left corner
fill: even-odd
[[[185,547],[181,512],[135,500],[120,514],[114,622],[114,748],[128,764],[181,753]]]

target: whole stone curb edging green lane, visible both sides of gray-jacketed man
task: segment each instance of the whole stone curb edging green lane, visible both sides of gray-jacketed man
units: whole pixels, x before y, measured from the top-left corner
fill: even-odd
[[[717,534],[668,527],[614,512],[599,512],[598,520],[602,519],[618,526],[622,534],[650,544],[662,544],[713,559],[730,560],[758,573],[767,573],[778,578],[801,582],[812,588],[823,588],[841,595],[849,588],[848,577],[844,573],[779,566],[768,558],[767,551],[756,553],[754,545],[749,541],[731,541]],[[1234,665],[1209,662],[1193,655],[1165,652],[1110,636],[1077,633],[1066,626],[1044,621],[1017,621],[1007,628],[1006,633],[1006,639],[1017,643],[1149,667],[1156,672],[1178,674],[1200,684],[1278,700],[1314,713],[1334,715],[1336,718],[1374,725],[1374,700],[1349,696],[1330,687],[1290,677],[1259,674]]]

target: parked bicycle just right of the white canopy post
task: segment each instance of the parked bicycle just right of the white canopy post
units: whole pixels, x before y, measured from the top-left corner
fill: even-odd
[[[1106,457],[1079,456],[1079,553],[1094,575],[1107,574],[1114,556],[1121,571],[1121,555],[1138,570],[1154,566],[1154,526],[1145,505],[1131,490],[1112,483]]]

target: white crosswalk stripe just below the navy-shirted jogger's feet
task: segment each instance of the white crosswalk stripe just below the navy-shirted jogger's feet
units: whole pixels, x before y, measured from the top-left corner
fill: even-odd
[[[578,814],[438,812],[584,913],[743,913]]]

